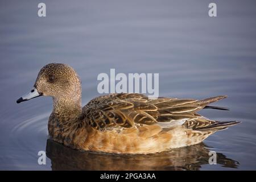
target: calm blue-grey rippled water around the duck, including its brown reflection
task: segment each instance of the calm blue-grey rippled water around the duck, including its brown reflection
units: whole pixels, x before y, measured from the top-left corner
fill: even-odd
[[[0,169],[256,169],[256,9],[254,1],[36,1],[0,4]],[[82,104],[98,96],[97,75],[159,73],[160,96],[229,97],[203,110],[218,121],[242,121],[203,143],[154,155],[73,151],[48,139],[52,100],[16,104],[47,63],[71,65],[82,80]],[[47,151],[46,165],[38,151]],[[217,152],[217,165],[208,152]],[[94,159],[95,161],[92,161]]]

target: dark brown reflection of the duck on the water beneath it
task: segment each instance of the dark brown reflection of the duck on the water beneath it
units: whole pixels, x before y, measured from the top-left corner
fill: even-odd
[[[209,164],[209,149],[204,143],[147,155],[117,155],[77,151],[52,139],[47,140],[47,157],[52,170],[199,170]],[[237,168],[239,163],[217,153],[217,164]]]

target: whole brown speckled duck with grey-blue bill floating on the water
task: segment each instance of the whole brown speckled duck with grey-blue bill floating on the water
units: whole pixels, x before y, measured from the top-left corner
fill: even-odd
[[[198,114],[227,96],[203,100],[150,98],[139,93],[110,93],[81,105],[80,77],[67,64],[40,69],[31,91],[17,103],[40,96],[53,99],[49,137],[74,150],[114,154],[154,154],[203,142],[238,121],[214,121]]]

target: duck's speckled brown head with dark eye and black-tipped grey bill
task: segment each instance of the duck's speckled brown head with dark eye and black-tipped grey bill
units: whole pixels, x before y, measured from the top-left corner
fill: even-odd
[[[51,96],[55,101],[81,102],[80,78],[69,65],[47,64],[38,73],[31,92],[20,97],[17,103],[39,96]]]

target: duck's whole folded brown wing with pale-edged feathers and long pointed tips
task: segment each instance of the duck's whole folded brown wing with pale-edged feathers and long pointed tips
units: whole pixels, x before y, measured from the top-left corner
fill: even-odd
[[[225,97],[217,96],[205,100],[168,97],[152,99],[137,93],[108,94],[88,102],[82,108],[82,119],[101,131],[154,124],[163,128],[183,124],[188,128],[199,125],[205,127],[215,122],[196,112]]]

